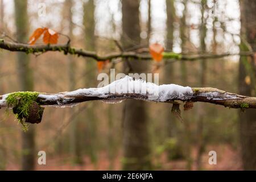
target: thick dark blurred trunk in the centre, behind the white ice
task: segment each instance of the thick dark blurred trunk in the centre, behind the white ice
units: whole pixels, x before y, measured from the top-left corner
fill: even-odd
[[[122,43],[125,48],[131,47],[126,41],[126,36],[135,43],[140,42],[140,24],[139,24],[139,1],[122,1]],[[133,15],[133,18],[131,18]],[[124,36],[126,35],[126,36]],[[145,73],[146,64],[141,61],[129,61],[133,72]],[[125,66],[127,68],[127,65]],[[151,169],[150,162],[150,142],[148,139],[148,120],[146,108],[143,101],[125,102],[125,113],[123,121],[123,152],[125,170],[143,170]]]

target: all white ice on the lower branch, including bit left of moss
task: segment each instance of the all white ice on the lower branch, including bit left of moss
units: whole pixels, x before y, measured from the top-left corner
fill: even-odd
[[[140,98],[144,96],[144,100],[164,102],[167,100],[189,100],[193,96],[193,91],[189,86],[180,86],[175,84],[156,85],[141,79],[135,79],[125,76],[119,80],[112,82],[101,88],[78,89],[72,92],[61,92],[57,94],[39,94],[38,97],[44,101],[55,101],[54,106],[73,106],[70,104],[77,97],[98,97],[107,103],[118,103],[126,98],[129,94],[138,94]],[[0,107],[6,106],[5,97],[0,100]]]

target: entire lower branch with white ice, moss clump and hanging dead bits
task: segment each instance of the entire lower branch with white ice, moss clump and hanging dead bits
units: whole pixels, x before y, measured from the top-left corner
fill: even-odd
[[[172,113],[180,117],[179,103],[186,102],[184,110],[191,109],[193,102],[209,102],[241,110],[256,109],[256,97],[240,96],[214,88],[190,88],[175,84],[156,85],[143,80],[134,80],[125,76],[101,88],[78,89],[72,92],[56,94],[38,92],[14,92],[0,96],[0,109],[13,109],[23,129],[28,123],[42,121],[44,107],[74,106],[80,102],[101,100],[107,103],[119,103],[126,99],[172,103]],[[181,119],[182,120],[182,119]]]

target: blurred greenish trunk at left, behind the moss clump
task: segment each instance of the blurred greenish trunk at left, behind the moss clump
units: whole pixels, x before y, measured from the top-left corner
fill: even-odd
[[[26,43],[28,38],[27,1],[15,1],[15,22],[17,40]],[[18,81],[21,91],[32,91],[34,88],[30,59],[26,53],[17,53]],[[35,129],[30,126],[25,133],[22,131],[22,170],[35,169]]]

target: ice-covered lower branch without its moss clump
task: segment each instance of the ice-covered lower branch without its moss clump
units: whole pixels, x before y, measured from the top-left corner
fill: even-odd
[[[6,98],[0,96],[0,108],[7,107]],[[241,96],[215,88],[190,88],[180,85],[155,85],[126,76],[102,88],[79,89],[56,94],[39,93],[36,102],[44,106],[71,106],[80,102],[101,100],[117,103],[126,99],[168,102],[208,102],[230,108],[256,109],[256,97]]]

